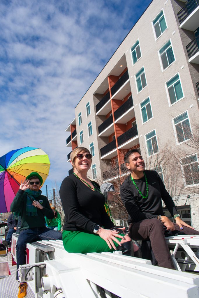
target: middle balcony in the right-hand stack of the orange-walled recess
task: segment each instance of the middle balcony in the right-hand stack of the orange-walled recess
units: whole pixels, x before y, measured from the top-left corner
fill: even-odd
[[[114,112],[115,123],[127,123],[129,119],[135,117],[133,110],[132,96]]]

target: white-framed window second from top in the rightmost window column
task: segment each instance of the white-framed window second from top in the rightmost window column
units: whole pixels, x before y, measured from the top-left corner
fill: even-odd
[[[159,49],[158,53],[161,60],[162,70],[165,70],[175,61],[174,52],[170,40],[167,41],[166,44],[161,47],[161,49]]]

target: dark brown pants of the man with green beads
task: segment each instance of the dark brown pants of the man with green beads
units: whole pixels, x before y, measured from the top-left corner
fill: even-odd
[[[183,226],[183,230],[177,224],[174,224],[175,230],[184,232],[186,235],[199,235],[199,232]],[[129,236],[133,240],[150,240],[151,247],[158,266],[175,269],[171,259],[169,248],[164,236],[163,224],[157,219],[144,219],[130,226]]]

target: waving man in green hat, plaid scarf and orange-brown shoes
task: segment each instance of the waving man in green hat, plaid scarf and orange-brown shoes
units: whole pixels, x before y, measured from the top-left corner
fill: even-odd
[[[45,216],[53,219],[54,213],[46,196],[41,195],[39,189],[43,183],[42,177],[36,173],[30,173],[26,180],[21,181],[10,210],[21,213],[21,232],[16,244],[17,275],[19,265],[26,264],[26,244],[37,240],[62,239],[62,234],[55,230],[47,229]],[[20,283],[18,298],[26,296],[27,283]]]

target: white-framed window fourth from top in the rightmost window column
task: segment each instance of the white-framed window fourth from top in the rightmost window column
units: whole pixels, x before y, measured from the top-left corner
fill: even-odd
[[[173,119],[177,144],[189,140],[192,137],[189,116],[187,112]]]

